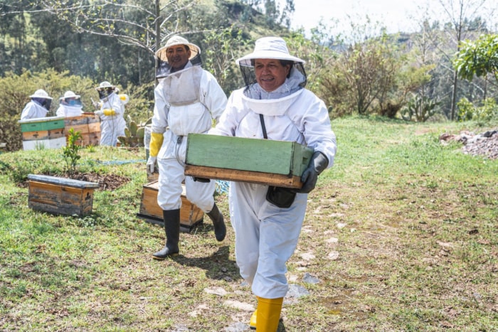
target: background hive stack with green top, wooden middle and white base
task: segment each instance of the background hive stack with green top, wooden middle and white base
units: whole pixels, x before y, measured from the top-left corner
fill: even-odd
[[[58,149],[65,146],[64,117],[42,117],[18,121],[23,150]]]

